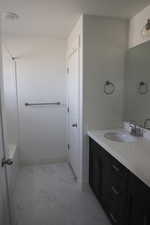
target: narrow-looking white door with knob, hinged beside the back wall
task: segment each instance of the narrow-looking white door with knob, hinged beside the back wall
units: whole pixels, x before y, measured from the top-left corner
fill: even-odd
[[[79,39],[78,39],[79,40]],[[69,160],[77,179],[80,177],[80,144],[79,144],[79,74],[80,74],[79,41],[75,41],[68,60],[68,125],[69,125]]]

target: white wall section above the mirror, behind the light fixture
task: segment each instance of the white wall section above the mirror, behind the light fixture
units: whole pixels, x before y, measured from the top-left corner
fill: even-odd
[[[150,40],[150,38],[144,38],[141,35],[142,28],[146,24],[147,19],[149,18],[150,18],[150,6],[146,7],[136,16],[131,18],[129,29],[129,48]]]

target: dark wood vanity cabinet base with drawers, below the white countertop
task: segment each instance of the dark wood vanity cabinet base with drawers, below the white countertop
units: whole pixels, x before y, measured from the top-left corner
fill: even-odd
[[[150,225],[150,189],[91,138],[89,173],[113,225]]]

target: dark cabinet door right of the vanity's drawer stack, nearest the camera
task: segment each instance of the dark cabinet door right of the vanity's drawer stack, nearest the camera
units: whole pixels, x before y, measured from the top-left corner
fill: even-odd
[[[129,196],[129,225],[150,225],[150,189],[131,176]]]

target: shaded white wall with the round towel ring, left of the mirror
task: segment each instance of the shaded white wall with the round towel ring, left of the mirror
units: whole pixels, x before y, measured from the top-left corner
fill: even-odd
[[[123,81],[128,22],[84,16],[84,98],[88,129],[120,126],[123,115]],[[105,81],[115,84],[112,95],[104,94]]]

